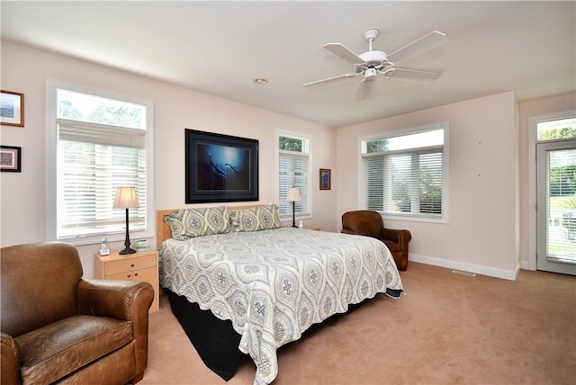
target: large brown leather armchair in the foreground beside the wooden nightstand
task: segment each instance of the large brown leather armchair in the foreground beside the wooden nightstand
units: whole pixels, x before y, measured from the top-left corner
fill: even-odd
[[[1,375],[12,384],[123,384],[148,365],[147,282],[83,280],[76,247],[0,249]]]

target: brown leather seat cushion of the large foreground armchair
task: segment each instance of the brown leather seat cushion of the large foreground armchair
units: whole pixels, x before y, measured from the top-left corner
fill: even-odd
[[[23,383],[51,383],[132,340],[132,323],[77,315],[16,338]]]

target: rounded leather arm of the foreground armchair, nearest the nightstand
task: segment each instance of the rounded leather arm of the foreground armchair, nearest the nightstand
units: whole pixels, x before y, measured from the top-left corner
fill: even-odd
[[[76,293],[78,313],[126,321],[148,317],[154,300],[152,285],[138,281],[80,280]]]

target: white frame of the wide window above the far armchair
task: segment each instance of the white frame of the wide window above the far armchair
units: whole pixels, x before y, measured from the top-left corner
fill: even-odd
[[[449,199],[448,199],[448,192],[449,192],[449,162],[448,162],[448,154],[449,154],[449,122],[442,121],[434,124],[428,124],[426,126],[419,126],[410,129],[404,130],[394,130],[394,131],[385,131],[379,132],[363,137],[358,138],[358,208],[361,210],[365,210],[363,206],[363,176],[364,176],[364,166],[363,166],[363,159],[366,155],[365,153],[365,143],[372,140],[378,139],[392,139],[397,137],[409,136],[413,134],[424,133],[433,130],[444,130],[444,144],[441,145],[442,147],[442,215],[440,217],[433,217],[426,214],[413,214],[413,213],[389,213],[384,212],[383,210],[378,210],[378,212],[383,216],[383,219],[390,219],[390,220],[406,220],[406,221],[415,221],[415,222],[431,222],[431,223],[449,223]],[[422,152],[426,152],[432,148],[438,148],[440,146],[422,146],[419,148],[409,148],[403,150],[390,150],[386,151],[385,153],[389,153],[390,155],[398,155],[398,154],[419,154]],[[383,152],[384,153],[384,152]],[[383,154],[380,153],[380,154]]]

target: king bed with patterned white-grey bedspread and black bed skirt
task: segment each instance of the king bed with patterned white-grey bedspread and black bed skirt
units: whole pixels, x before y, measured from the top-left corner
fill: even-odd
[[[383,242],[280,224],[277,206],[157,211],[160,286],[202,361],[226,381],[248,354],[255,384],[276,351],[383,293],[401,277]]]

